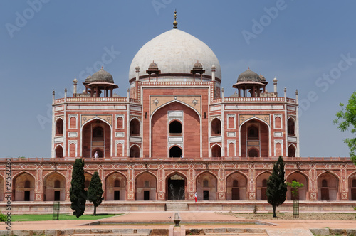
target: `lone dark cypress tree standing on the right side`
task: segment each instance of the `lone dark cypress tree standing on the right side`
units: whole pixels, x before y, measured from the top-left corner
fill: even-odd
[[[286,200],[287,184],[285,182],[283,158],[279,156],[273,166],[272,175],[268,178],[266,191],[267,201],[273,208],[273,217],[277,217],[276,207]]]

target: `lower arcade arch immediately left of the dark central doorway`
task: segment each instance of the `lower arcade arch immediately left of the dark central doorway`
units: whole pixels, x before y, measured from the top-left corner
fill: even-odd
[[[157,199],[157,178],[152,173],[145,171],[136,177],[136,200]]]

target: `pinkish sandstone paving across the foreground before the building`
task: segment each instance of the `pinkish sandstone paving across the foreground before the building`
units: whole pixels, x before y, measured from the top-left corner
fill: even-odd
[[[117,225],[85,225],[93,220],[48,220],[35,222],[11,222],[11,230],[65,230],[65,229],[168,229],[173,225],[173,212],[134,212],[124,215],[95,220],[117,222]],[[265,229],[268,235],[312,235],[309,229],[356,229],[355,220],[258,220],[260,224],[251,224],[252,220],[236,218],[234,215],[221,215],[213,212],[181,212],[181,225],[185,229],[214,228],[258,228]],[[6,225],[1,223],[0,230]],[[305,234],[306,233],[306,234]],[[1,235],[1,233],[0,233]]]

